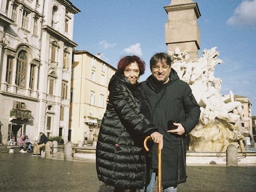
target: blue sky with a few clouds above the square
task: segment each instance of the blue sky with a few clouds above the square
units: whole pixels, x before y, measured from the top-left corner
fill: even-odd
[[[150,75],[150,57],[166,52],[164,6],[171,0],[71,0],[81,12],[75,15],[77,50],[92,54],[116,67],[122,56],[136,54],[147,64],[140,80]],[[198,19],[203,49],[217,47],[223,64],[216,65],[215,77],[223,80],[221,93],[246,96],[256,115],[256,0],[205,1],[198,3]]]

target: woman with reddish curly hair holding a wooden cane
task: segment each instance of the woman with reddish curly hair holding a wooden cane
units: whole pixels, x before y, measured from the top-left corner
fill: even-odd
[[[99,180],[114,186],[114,192],[135,191],[145,185],[145,137],[150,135],[163,146],[163,135],[142,114],[148,111],[138,86],[144,72],[144,61],[126,56],[109,81],[109,101],[96,146],[96,170]]]

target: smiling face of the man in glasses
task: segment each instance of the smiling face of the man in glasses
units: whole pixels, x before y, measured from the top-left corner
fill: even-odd
[[[171,72],[171,67],[166,62],[158,62],[151,69],[153,77],[161,83],[167,83]]]

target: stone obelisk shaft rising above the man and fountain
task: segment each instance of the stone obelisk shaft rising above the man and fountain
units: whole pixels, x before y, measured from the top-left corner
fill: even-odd
[[[168,51],[187,51],[188,61],[197,61],[200,49],[200,30],[197,19],[201,16],[197,2],[192,0],[172,0],[164,6],[168,14],[165,25],[165,43]]]

